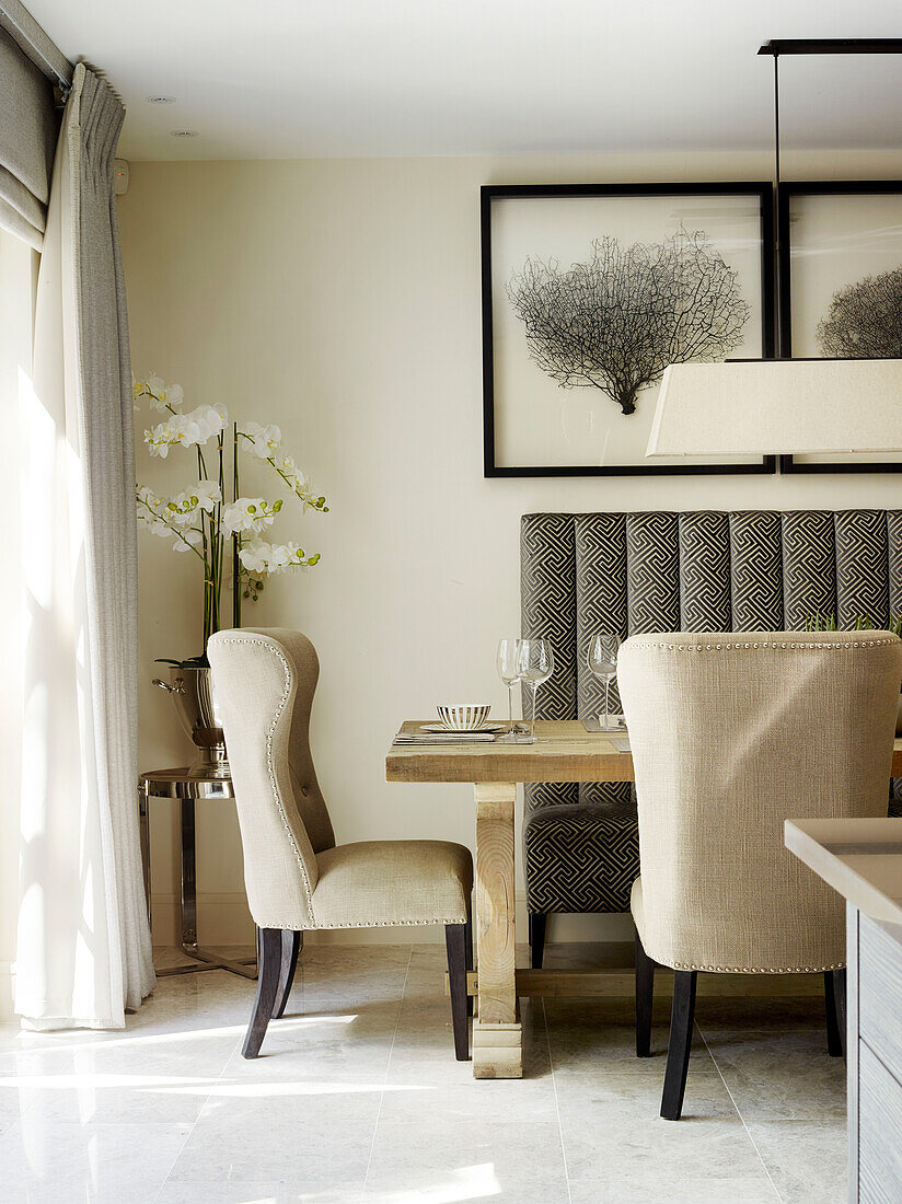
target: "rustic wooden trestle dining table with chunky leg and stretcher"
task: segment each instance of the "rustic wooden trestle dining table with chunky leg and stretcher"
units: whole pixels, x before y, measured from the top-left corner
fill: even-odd
[[[419,727],[420,721],[408,721],[401,731],[413,732]],[[476,996],[473,1076],[477,1079],[521,1078],[520,997],[629,995],[632,991],[629,970],[517,969],[514,951],[514,803],[518,783],[632,781],[632,754],[627,743],[625,732],[589,732],[579,720],[540,720],[536,722],[535,744],[501,740],[478,744],[394,742],[388,751],[388,781],[473,784],[477,969],[470,979],[470,988]],[[892,777],[902,778],[902,739],[895,743]],[[798,993],[786,990],[773,975],[766,978],[764,986],[767,993]],[[818,990],[823,990],[820,980]],[[700,993],[703,993],[701,985]],[[806,990],[802,993],[809,992]]]

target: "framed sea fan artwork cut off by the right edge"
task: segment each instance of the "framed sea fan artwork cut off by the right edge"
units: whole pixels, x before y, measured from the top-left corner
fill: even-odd
[[[780,183],[780,341],[796,358],[902,358],[902,182]],[[867,421],[867,399],[861,399]],[[780,456],[782,472],[902,472],[889,454]]]

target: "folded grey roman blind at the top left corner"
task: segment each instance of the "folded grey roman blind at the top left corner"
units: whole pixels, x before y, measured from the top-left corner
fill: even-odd
[[[39,249],[57,126],[53,84],[0,29],[0,225]]]

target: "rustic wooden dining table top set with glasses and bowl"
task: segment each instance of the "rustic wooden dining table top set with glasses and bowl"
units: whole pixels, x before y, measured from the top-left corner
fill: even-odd
[[[413,731],[428,720],[409,720]],[[540,720],[535,744],[391,744],[387,781],[632,781],[632,754],[619,751],[623,733],[586,732],[578,719]],[[617,742],[617,743],[615,743]],[[892,754],[902,778],[902,739]]]

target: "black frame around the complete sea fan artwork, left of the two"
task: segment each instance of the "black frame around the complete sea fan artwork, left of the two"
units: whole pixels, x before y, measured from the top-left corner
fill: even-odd
[[[629,197],[629,196],[737,196],[759,199],[761,214],[761,337],[765,359],[774,354],[774,208],[770,182],[638,183],[638,184],[484,184],[481,188],[482,336],[483,336],[483,474],[485,477],[696,477],[764,476],[777,471],[777,456],[755,464],[691,465],[526,465],[495,462],[495,349],[491,273],[493,202],[508,197]]]

